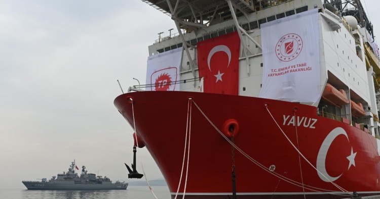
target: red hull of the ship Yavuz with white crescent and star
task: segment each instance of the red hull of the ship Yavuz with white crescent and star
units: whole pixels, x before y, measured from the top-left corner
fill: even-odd
[[[239,126],[235,145],[263,165],[260,168],[235,149],[237,198],[348,198],[345,191],[359,195],[380,193],[376,139],[359,128],[317,115],[315,107],[183,91],[126,93],[118,96],[114,104],[132,127],[135,123],[137,135],[159,166],[172,198],[180,182],[185,140],[189,148],[186,147],[179,195],[232,195],[232,145],[200,110],[218,129],[235,119]],[[186,125],[191,127],[187,139]],[[321,173],[327,177],[321,177]]]

